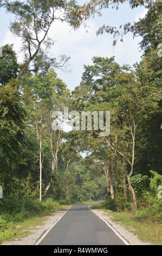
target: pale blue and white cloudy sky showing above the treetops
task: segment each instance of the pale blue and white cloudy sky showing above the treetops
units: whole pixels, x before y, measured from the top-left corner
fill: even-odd
[[[79,4],[85,1],[79,1]],[[110,34],[102,34],[96,36],[96,30],[102,26],[110,25],[119,27],[127,22],[138,21],[144,17],[146,9],[138,7],[135,9],[129,8],[128,3],[124,3],[116,11],[116,9],[106,9],[102,11],[102,17],[95,16],[87,22],[87,31],[84,27],[74,31],[67,23],[54,22],[50,28],[49,37],[55,44],[49,50],[51,56],[59,56],[66,54],[70,56],[69,69],[70,72],[64,72],[56,69],[58,77],[65,82],[70,90],[79,86],[83,72],[83,65],[91,65],[92,57],[112,57],[115,56],[115,61],[120,65],[133,65],[140,61],[142,52],[140,52],[139,42],[140,37],[133,39],[131,33],[127,34],[124,42],[118,41],[113,47],[113,36]],[[20,52],[21,41],[9,30],[10,22],[14,20],[14,15],[6,14],[4,9],[0,9],[0,46],[5,44],[14,44],[14,50],[17,53],[18,60],[22,60],[22,52]]]

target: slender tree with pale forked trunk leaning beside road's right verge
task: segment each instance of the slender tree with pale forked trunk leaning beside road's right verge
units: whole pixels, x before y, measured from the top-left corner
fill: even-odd
[[[140,81],[134,76],[133,72],[124,74],[124,72],[119,72],[116,76],[119,84],[115,88],[116,97],[111,101],[112,106],[114,106],[114,113],[116,117],[122,117],[123,128],[122,128],[122,137],[124,136],[125,141],[122,140],[121,147],[129,143],[127,141],[128,131],[131,132],[132,142],[131,144],[127,144],[126,148],[129,148],[132,145],[132,153],[131,155],[127,155],[122,152],[115,145],[115,143],[106,139],[106,142],[109,144],[110,150],[116,150],[118,154],[120,154],[124,159],[129,163],[131,170],[127,175],[127,181],[129,185],[129,189],[132,192],[134,206],[137,210],[137,203],[135,199],[135,193],[131,186],[131,176],[133,174],[134,169],[134,158],[135,158],[135,135],[137,133],[137,129],[140,123],[148,117],[149,114],[153,113],[158,104],[156,101],[159,100],[159,94],[156,88],[150,87],[149,84],[141,84]],[[121,142],[120,142],[121,144]],[[130,148],[129,148],[130,150]],[[131,159],[130,159],[131,157]]]

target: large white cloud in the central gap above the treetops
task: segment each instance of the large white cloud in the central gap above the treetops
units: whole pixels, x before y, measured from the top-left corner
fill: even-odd
[[[57,42],[51,49],[55,55],[66,53],[71,56],[72,74],[66,74],[57,70],[59,76],[68,84],[70,89],[74,89],[81,81],[83,65],[92,64],[92,57],[111,57],[115,56],[115,61],[119,64],[130,64],[139,62],[141,53],[139,52],[138,42],[140,38],[133,39],[132,34],[127,34],[124,42],[118,41],[113,47],[113,38],[109,34],[96,36],[97,25],[89,22],[90,29],[86,33],[85,28],[69,33],[68,25],[57,25],[51,30],[55,31]],[[51,32],[50,32],[51,33]]]

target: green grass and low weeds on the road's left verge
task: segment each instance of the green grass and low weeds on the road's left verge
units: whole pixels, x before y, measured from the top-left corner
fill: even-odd
[[[31,233],[31,227],[42,224],[51,212],[67,209],[69,206],[60,205],[51,198],[42,203],[32,199],[7,203],[8,209],[1,209],[0,212],[0,244]],[[15,208],[12,208],[13,204]]]

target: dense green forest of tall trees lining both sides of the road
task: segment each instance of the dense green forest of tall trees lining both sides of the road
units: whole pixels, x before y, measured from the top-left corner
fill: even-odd
[[[124,1],[109,2],[118,6]],[[128,32],[141,36],[140,63],[121,66],[115,57],[94,56],[72,92],[56,73],[66,68],[68,57],[48,54],[53,44],[49,28],[60,19],[77,29],[98,7],[107,8],[108,1],[90,1],[83,7],[75,1],[44,0],[1,1],[1,5],[16,17],[11,31],[22,39],[24,62],[18,63],[13,45],[3,46],[0,228],[7,229],[11,218],[22,221],[34,205],[43,207],[48,200],[60,204],[103,200],[106,209],[162,220],[161,2],[132,0],[131,8],[148,9],[144,19],[123,26],[121,32],[105,25],[99,28],[98,34],[114,35],[114,45]],[[56,10],[64,10],[61,17],[55,16]],[[52,113],[63,112],[64,107],[80,117],[81,111],[109,111],[109,135],[100,136],[93,124],[86,131],[53,130]]]

